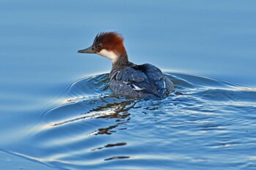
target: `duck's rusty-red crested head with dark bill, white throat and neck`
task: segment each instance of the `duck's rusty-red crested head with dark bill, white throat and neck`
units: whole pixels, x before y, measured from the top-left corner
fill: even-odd
[[[112,63],[127,60],[127,52],[124,48],[124,39],[116,32],[102,32],[97,34],[91,47],[78,50],[78,53],[97,53],[110,58]]]

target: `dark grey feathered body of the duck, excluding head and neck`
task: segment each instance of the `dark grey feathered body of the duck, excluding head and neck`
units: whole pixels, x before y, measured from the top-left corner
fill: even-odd
[[[174,91],[161,70],[148,63],[113,69],[110,89],[117,95],[137,98],[164,98]]]

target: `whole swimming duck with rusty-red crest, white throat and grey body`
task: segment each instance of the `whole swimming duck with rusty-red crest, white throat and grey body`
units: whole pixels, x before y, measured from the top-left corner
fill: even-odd
[[[132,98],[165,98],[174,91],[173,83],[149,63],[129,62],[123,39],[114,32],[98,34],[94,45],[78,53],[97,53],[112,61],[110,89],[116,95]]]

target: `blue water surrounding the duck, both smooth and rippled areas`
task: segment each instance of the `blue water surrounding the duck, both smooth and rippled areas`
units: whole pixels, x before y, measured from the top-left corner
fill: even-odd
[[[53,169],[256,169],[256,1],[0,9],[0,150]],[[99,31],[124,34],[131,61],[165,70],[176,93],[113,96],[110,61],[76,53]]]

